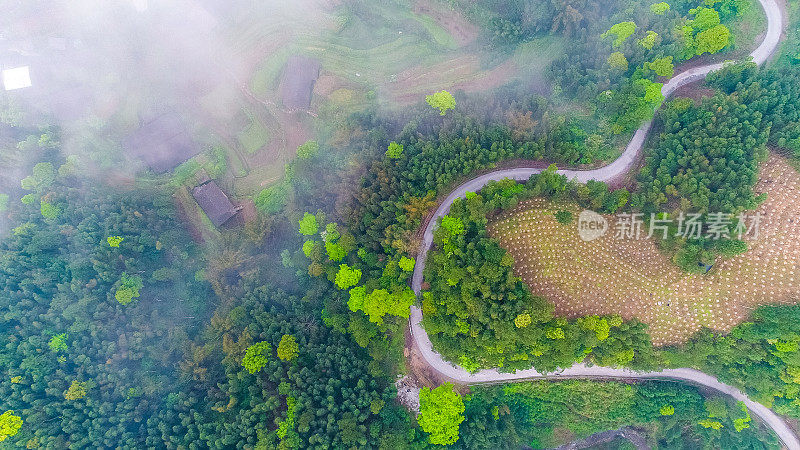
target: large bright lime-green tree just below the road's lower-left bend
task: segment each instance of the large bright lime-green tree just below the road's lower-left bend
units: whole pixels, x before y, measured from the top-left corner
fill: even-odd
[[[464,400],[453,391],[452,384],[444,383],[433,390],[424,387],[419,393],[417,422],[429,434],[431,444],[454,444],[464,421],[464,409]]]

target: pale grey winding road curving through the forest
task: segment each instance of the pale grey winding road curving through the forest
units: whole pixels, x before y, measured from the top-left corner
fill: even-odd
[[[761,45],[755,49],[750,56],[757,64],[763,64],[778,47],[783,30],[783,15],[780,7],[775,0],[759,0],[767,17],[767,32]],[[661,92],[664,97],[672,95],[679,87],[699,81],[709,73],[722,68],[722,64],[711,64],[707,66],[695,67],[682,72],[664,84]],[[594,170],[559,170],[558,172],[566,175],[570,179],[580,182],[589,180],[610,181],[624,176],[630,171],[644,147],[645,139],[650,131],[652,122],[643,124],[633,135],[622,155],[613,163]],[[438,220],[447,214],[450,206],[457,198],[463,198],[467,192],[479,191],[490,181],[499,181],[504,178],[511,178],[518,181],[525,181],[531,175],[541,172],[536,168],[516,168],[498,170],[474,178],[452,191],[442,201],[431,220],[425,228],[422,243],[420,245],[417,264],[414,267],[412,278],[412,288],[417,295],[422,290],[422,275],[425,270],[425,260],[433,243],[433,231]],[[715,377],[694,369],[667,369],[655,372],[634,372],[628,369],[614,369],[610,367],[587,366],[585,364],[575,364],[572,367],[556,373],[539,373],[536,370],[522,370],[515,373],[501,373],[496,369],[482,370],[477,373],[469,373],[463,368],[445,361],[441,355],[433,350],[433,345],[422,328],[422,311],[416,307],[411,307],[409,319],[411,334],[419,349],[423,359],[430,366],[444,377],[464,384],[475,383],[495,383],[504,381],[520,381],[525,379],[567,379],[567,378],[593,378],[593,379],[671,379],[688,382],[691,384],[704,386],[727,394],[736,400],[744,402],[750,411],[758,416],[766,425],[773,429],[783,444],[791,450],[800,450],[800,439],[795,432],[775,414],[771,409],[764,405],[750,400],[743,392],[727,384],[721,383]]]

